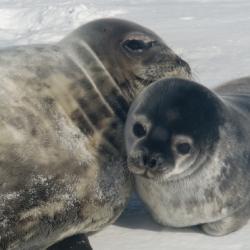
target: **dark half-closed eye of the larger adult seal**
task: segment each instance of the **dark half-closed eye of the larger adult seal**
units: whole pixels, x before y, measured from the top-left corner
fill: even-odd
[[[126,40],[123,42],[122,46],[129,52],[142,53],[145,50],[150,49],[153,46],[153,41],[143,41],[143,40]]]

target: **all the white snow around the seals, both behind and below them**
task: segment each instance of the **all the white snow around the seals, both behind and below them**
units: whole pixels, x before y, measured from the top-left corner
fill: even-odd
[[[249,0],[0,0],[0,47],[57,41],[100,17],[138,22],[215,86],[250,73]],[[137,198],[120,219],[90,237],[94,250],[249,250],[250,222],[225,237],[154,223]]]

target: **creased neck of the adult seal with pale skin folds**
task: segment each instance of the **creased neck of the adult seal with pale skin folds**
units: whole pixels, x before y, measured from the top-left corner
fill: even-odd
[[[60,104],[74,123],[86,134],[102,129],[105,120],[111,117],[124,122],[130,98],[102,61],[84,41],[62,45],[75,75],[71,81],[58,83],[64,93],[60,93]]]

